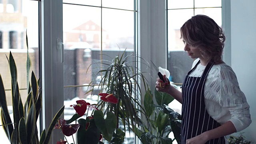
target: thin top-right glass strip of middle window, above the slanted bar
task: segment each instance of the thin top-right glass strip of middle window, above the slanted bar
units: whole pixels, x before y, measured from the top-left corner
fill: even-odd
[[[134,0],[102,0],[102,7],[134,10]]]

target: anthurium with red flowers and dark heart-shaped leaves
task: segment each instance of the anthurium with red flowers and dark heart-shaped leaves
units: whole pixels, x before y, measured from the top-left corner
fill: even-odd
[[[117,103],[117,99],[113,94],[99,94],[102,100],[110,103]],[[113,112],[106,112],[104,115],[101,110],[96,108],[94,104],[90,104],[85,100],[77,100],[77,104],[70,105],[76,111],[76,114],[70,120],[59,119],[54,129],[61,129],[66,136],[72,136],[72,144],[103,144],[102,137],[110,143],[122,144],[124,142],[124,132],[116,129],[117,119]],[[87,109],[88,108],[88,109]],[[89,116],[89,108],[93,108],[94,112]],[[86,115],[86,119],[81,118]],[[78,119],[78,124],[71,124]],[[76,134],[76,142],[74,140]],[[67,140],[60,140],[57,144],[66,144]]]

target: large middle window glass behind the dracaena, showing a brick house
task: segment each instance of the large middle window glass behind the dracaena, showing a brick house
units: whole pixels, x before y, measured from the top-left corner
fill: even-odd
[[[135,14],[136,0],[63,0],[64,42],[64,104],[76,104],[84,99],[91,104],[97,103],[98,93],[84,95],[90,90],[90,82],[100,75],[96,65],[98,60],[112,60],[119,51],[126,55],[135,51]],[[102,6],[101,6],[102,5]],[[84,14],[84,16],[77,16]],[[105,55],[100,55],[105,54]],[[106,56],[107,55],[107,56]],[[135,55],[134,55],[135,56]],[[97,81],[95,81],[96,84]],[[89,89],[88,89],[89,88]],[[64,110],[64,119],[74,114],[72,107]],[[68,138],[70,139],[70,138]],[[71,138],[72,139],[72,138]],[[133,138],[126,138],[126,142]],[[128,142],[130,143],[130,142]]]

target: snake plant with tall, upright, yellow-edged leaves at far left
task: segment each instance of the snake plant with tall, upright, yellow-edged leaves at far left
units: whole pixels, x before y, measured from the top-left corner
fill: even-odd
[[[64,111],[64,106],[55,115],[50,127],[48,128],[48,132],[46,133],[44,130],[39,140],[36,121],[38,120],[38,116],[42,108],[42,93],[38,87],[40,79],[36,78],[33,71],[31,73],[31,80],[29,80],[31,60],[28,53],[28,37],[26,37],[26,43],[27,99],[24,104],[20,96],[19,85],[17,82],[18,71],[12,52],[10,52],[9,58],[6,56],[11,74],[13,121],[11,120],[10,113],[7,108],[6,93],[2,76],[0,74],[0,108],[1,121],[3,124],[2,128],[4,129],[4,132],[11,144],[48,144],[54,125]]]

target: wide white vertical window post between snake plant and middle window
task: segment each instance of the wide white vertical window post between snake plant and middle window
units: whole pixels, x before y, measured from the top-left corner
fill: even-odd
[[[46,132],[64,102],[63,63],[56,44],[57,38],[63,42],[62,11],[62,0],[41,1],[42,127]],[[49,143],[55,144],[60,138],[63,134],[53,130]]]

